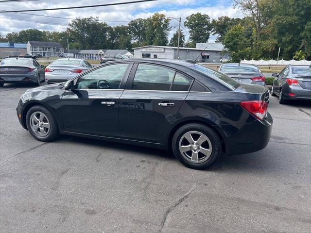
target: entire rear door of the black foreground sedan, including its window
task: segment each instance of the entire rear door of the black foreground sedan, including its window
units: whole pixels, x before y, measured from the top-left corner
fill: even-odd
[[[121,137],[160,142],[188,95],[192,78],[173,69],[135,64],[121,95]]]

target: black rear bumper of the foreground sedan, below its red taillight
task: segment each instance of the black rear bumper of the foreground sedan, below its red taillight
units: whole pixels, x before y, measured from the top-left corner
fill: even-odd
[[[268,113],[263,120],[243,124],[240,128],[222,126],[227,134],[225,148],[227,155],[245,154],[264,149],[270,140],[273,119]]]

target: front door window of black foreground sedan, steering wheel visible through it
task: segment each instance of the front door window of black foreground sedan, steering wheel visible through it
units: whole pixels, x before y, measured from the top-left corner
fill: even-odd
[[[95,69],[77,82],[78,89],[119,89],[128,64],[115,64]]]

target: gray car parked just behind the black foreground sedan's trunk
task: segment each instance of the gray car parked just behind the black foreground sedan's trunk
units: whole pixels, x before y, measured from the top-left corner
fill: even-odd
[[[260,69],[255,65],[226,63],[219,67],[219,71],[239,83],[264,86],[265,77],[262,75]]]

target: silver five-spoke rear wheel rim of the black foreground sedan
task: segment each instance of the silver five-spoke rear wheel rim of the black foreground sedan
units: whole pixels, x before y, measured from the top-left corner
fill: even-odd
[[[179,140],[179,151],[191,163],[203,163],[212,153],[212,145],[204,133],[190,131]]]

